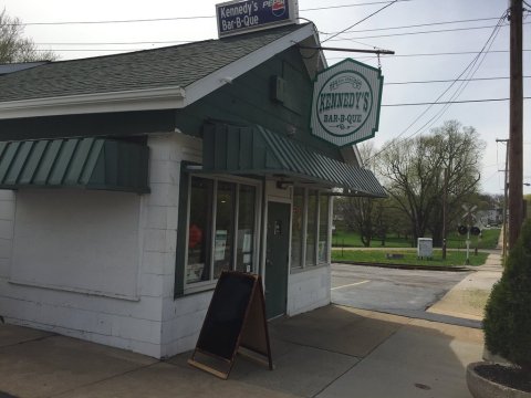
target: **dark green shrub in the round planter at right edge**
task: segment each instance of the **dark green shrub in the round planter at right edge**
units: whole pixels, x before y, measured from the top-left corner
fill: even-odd
[[[531,220],[511,249],[485,308],[487,348],[531,371]]]

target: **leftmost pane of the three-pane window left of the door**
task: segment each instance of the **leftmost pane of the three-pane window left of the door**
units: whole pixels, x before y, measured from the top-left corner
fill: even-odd
[[[188,261],[186,283],[210,279],[210,230],[214,184],[192,177],[190,182],[190,217],[188,222]]]

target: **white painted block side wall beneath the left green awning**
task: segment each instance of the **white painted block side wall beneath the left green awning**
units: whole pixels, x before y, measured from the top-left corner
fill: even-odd
[[[174,302],[180,159],[189,157],[177,136],[149,137],[147,195],[0,192],[0,315],[7,322],[164,356],[163,304]],[[96,272],[88,272],[92,268]],[[119,297],[112,297],[116,292]]]

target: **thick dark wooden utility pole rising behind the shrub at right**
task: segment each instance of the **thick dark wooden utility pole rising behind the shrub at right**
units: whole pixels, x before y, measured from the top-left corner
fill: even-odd
[[[523,221],[522,0],[511,0],[510,22],[509,249],[512,249]]]

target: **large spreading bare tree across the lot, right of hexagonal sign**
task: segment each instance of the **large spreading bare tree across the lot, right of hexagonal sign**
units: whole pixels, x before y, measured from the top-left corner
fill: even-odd
[[[378,170],[387,192],[406,213],[415,241],[430,231],[434,243],[440,244],[445,178],[447,219],[455,219],[462,201],[477,190],[485,144],[473,127],[449,121],[429,135],[392,140],[386,147]]]

